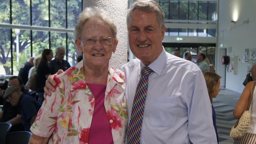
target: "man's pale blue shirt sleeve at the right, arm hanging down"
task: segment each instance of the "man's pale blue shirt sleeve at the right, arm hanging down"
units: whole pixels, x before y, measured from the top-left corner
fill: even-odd
[[[188,133],[193,144],[217,144],[211,102],[201,71],[194,76],[193,95],[188,108]]]

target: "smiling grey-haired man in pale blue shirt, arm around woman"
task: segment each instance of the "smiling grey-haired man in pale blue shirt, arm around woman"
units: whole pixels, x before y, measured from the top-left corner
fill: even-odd
[[[148,77],[139,143],[217,144],[201,70],[194,63],[165,52],[162,46],[165,26],[161,7],[153,0],[134,2],[127,15],[127,27],[130,48],[137,57],[122,66],[126,73],[127,127],[141,68],[153,70]],[[54,90],[49,82],[46,85]]]

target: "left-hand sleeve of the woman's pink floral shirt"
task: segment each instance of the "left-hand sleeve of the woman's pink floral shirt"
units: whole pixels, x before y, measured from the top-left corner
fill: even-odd
[[[58,76],[57,76],[58,77]],[[59,77],[58,77],[59,78]],[[51,96],[46,96],[42,107],[39,109],[37,118],[30,128],[30,131],[40,137],[50,137],[57,126],[58,114],[63,99],[63,83],[52,92]],[[65,90],[62,90],[65,92]]]

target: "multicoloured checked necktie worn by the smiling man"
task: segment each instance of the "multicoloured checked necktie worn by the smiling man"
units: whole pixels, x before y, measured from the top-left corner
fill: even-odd
[[[148,66],[141,69],[141,78],[137,85],[132,114],[127,132],[127,144],[139,144],[143,121],[145,101],[148,91],[148,76],[153,72]]]

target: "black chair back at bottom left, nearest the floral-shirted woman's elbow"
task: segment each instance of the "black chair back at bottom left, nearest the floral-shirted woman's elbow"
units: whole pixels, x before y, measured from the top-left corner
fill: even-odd
[[[7,133],[6,144],[28,144],[32,133],[29,131],[16,131]]]

